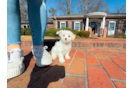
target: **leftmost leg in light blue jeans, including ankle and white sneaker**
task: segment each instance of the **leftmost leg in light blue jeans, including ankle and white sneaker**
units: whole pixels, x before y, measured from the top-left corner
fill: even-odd
[[[7,79],[20,75],[25,69],[20,43],[19,0],[7,0]]]

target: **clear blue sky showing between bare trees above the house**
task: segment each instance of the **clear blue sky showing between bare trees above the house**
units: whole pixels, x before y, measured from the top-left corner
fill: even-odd
[[[105,0],[105,2],[108,3],[110,13],[114,13],[115,8],[118,6],[122,6],[122,5],[126,6],[126,0]],[[51,7],[55,8],[54,5],[51,5],[50,3],[56,3],[56,2],[55,0],[48,0],[46,3],[47,10],[49,10]],[[72,0],[71,5],[75,6],[75,0]],[[75,11],[77,13],[77,8],[75,8]],[[48,15],[50,15],[49,11],[48,11]]]

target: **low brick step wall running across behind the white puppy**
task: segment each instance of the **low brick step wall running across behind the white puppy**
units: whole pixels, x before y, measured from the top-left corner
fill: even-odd
[[[21,47],[31,47],[32,46],[32,41],[31,40],[22,40],[21,42],[22,42]],[[126,42],[73,41],[72,42],[72,47],[79,47],[79,48],[96,47],[96,48],[126,49]]]

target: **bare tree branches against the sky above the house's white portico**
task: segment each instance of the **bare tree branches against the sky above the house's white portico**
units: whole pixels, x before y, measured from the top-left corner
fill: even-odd
[[[102,9],[108,9],[108,4],[105,0],[79,0],[79,13],[98,12]]]

